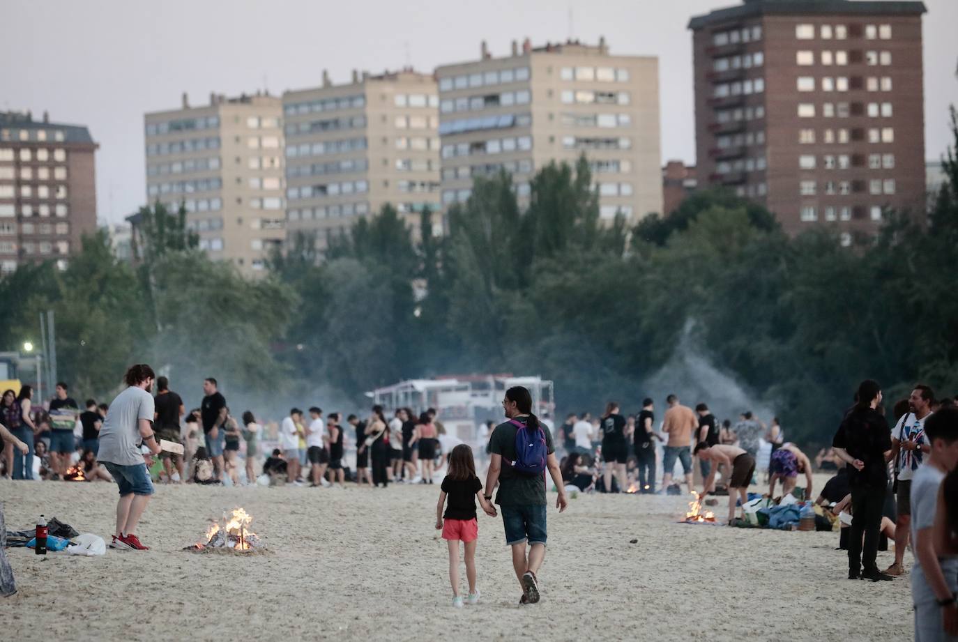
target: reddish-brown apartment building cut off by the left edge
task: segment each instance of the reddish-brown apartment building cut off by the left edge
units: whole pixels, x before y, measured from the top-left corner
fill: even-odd
[[[93,142],[46,112],[0,112],[0,271],[56,260],[61,269],[97,227]]]

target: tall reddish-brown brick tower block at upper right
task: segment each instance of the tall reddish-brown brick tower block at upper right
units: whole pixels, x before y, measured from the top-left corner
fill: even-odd
[[[787,232],[924,209],[921,2],[745,0],[692,18],[701,184]]]

